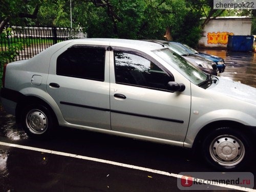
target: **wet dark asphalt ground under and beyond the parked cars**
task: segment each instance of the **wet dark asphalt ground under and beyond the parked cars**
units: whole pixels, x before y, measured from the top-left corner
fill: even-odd
[[[256,88],[256,53],[200,51],[225,59],[226,70],[220,76]],[[176,177],[138,170],[135,166],[173,174],[217,171],[201,157],[195,157],[180,147],[65,127],[59,127],[58,133],[49,140],[30,139],[23,130],[17,128],[14,116],[0,110],[0,142],[19,146],[0,144],[0,192],[180,191]],[[50,151],[35,151],[35,148],[28,147]],[[76,156],[63,156],[54,152]],[[88,157],[96,158],[97,161],[88,160]],[[114,165],[112,162],[120,164]],[[122,164],[132,165],[132,168],[119,166]],[[252,164],[243,172],[251,172],[256,176],[256,167]]]

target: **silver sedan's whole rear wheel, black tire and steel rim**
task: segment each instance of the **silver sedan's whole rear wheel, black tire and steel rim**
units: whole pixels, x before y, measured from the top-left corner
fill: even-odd
[[[24,131],[33,138],[48,138],[54,133],[53,114],[43,104],[27,105],[21,115]]]

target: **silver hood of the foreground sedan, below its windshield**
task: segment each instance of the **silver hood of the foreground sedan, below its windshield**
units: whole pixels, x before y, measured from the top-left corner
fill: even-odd
[[[218,79],[218,83],[213,88],[214,91],[256,105],[256,88],[221,77]]]

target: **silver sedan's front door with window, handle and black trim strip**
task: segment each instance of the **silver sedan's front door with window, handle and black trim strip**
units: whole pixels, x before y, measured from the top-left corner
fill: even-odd
[[[118,49],[112,54],[112,130],[182,145],[189,123],[190,87],[171,93],[166,86],[174,76],[155,59]]]

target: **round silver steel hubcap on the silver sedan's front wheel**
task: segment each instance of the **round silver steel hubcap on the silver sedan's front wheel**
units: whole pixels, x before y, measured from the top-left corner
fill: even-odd
[[[237,137],[231,135],[220,136],[211,142],[210,155],[221,165],[233,166],[243,160],[245,147]]]

